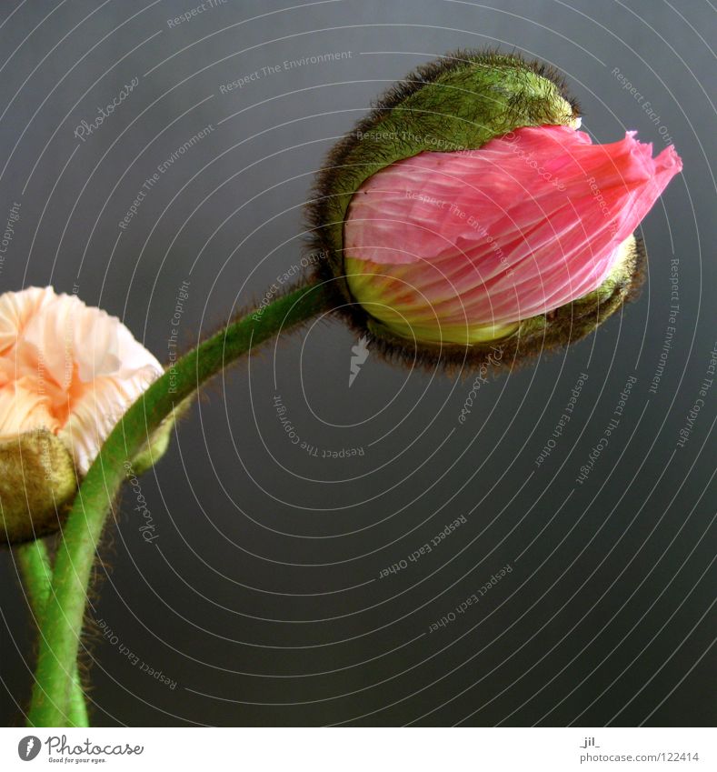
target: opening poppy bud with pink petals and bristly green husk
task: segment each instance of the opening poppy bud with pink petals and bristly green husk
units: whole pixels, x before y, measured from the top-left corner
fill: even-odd
[[[579,123],[563,81],[516,56],[408,75],[334,147],[311,205],[344,316],[386,354],[455,366],[590,333],[640,285],[633,231],[682,162]]]

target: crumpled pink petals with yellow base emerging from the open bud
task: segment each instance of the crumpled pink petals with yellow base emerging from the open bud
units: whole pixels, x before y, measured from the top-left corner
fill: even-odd
[[[500,326],[587,295],[682,169],[672,146],[652,158],[635,134],[593,145],[569,126],[523,127],[372,175],[344,224],[354,296],[419,326]]]

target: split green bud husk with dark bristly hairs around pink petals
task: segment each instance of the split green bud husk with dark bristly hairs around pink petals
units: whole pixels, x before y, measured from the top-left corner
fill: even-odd
[[[523,127],[577,128],[579,115],[578,103],[553,67],[494,50],[455,51],[393,85],[334,145],[307,205],[308,246],[322,256],[314,276],[334,295],[335,313],[389,360],[428,369],[443,366],[449,372],[513,368],[592,332],[641,284],[645,252],[632,236],[622,243],[615,270],[593,292],[521,320],[510,335],[470,344],[411,339],[383,325],[351,291],[344,246],[349,206],[373,175],[425,151],[478,150]],[[501,357],[494,355],[496,347]]]

